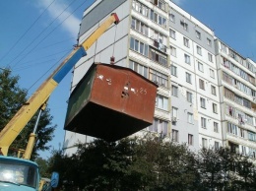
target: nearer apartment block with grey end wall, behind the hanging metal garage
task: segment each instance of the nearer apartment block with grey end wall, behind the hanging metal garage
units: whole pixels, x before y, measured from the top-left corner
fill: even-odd
[[[222,52],[215,33],[169,0],[96,0],[84,12],[79,41],[113,12],[120,23],[110,27],[77,63],[72,90],[94,62],[110,63],[114,56],[116,65],[129,67],[159,85],[153,125],[137,136],[151,133],[185,143],[192,151],[237,144],[228,141],[233,135],[223,128],[229,116],[223,112]],[[254,116],[248,109],[247,114]],[[247,130],[255,133],[252,128]],[[248,135],[255,139],[255,134]],[[93,139],[66,131],[65,154],[75,153],[78,143]],[[252,145],[247,150],[253,150]]]

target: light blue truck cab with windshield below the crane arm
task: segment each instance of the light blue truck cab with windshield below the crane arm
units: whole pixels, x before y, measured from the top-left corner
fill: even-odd
[[[1,191],[37,191],[39,179],[39,169],[35,162],[0,156]]]

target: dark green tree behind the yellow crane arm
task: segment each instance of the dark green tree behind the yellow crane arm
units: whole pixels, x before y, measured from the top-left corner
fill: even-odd
[[[18,85],[19,76],[12,76],[11,71],[0,71],[0,130],[12,119],[20,107],[27,101],[27,91]],[[56,125],[52,125],[52,116],[49,109],[42,112],[37,128],[37,139],[32,152],[32,159],[37,156],[38,151],[48,150],[46,144],[52,140]],[[29,136],[35,123],[36,116],[23,129],[21,134],[13,142],[10,148],[26,149]],[[16,152],[9,150],[9,154],[15,155]]]

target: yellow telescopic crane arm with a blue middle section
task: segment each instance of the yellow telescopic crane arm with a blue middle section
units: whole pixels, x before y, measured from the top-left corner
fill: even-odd
[[[43,82],[43,84],[33,93],[26,104],[24,104],[16,115],[9,121],[0,133],[0,148],[4,156],[7,156],[8,149],[17,136],[21,133],[27,123],[32,119],[34,113],[47,101],[49,96],[75,66],[75,64],[85,56],[96,39],[119,19],[116,14],[112,14],[93,32],[81,45],[67,56],[58,68]]]

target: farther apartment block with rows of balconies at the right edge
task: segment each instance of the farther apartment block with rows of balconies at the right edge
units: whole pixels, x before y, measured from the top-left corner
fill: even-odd
[[[256,158],[255,63],[216,39],[224,146]]]

